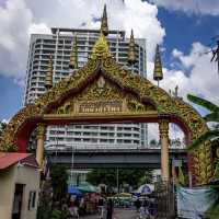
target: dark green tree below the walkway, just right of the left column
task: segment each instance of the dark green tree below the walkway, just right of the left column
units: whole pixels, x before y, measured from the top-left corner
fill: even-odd
[[[55,164],[50,169],[51,186],[54,189],[54,199],[60,200],[67,193],[68,173],[64,165]]]

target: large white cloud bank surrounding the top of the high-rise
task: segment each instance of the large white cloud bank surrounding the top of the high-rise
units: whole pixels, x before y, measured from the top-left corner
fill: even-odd
[[[8,0],[0,4],[0,73],[19,81],[25,77],[31,33],[49,33],[53,26],[100,27],[93,18],[101,16],[107,4],[110,28],[122,28],[129,35],[148,41],[148,57],[152,60],[155,44],[165,35],[157,19],[155,5],[141,0]]]

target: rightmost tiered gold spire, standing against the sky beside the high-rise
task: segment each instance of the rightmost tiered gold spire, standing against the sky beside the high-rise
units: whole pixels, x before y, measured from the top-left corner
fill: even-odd
[[[161,65],[161,56],[160,56],[160,49],[159,45],[157,45],[155,48],[155,58],[154,58],[154,69],[153,69],[153,80],[159,81],[163,79],[163,71],[162,71],[162,65]]]

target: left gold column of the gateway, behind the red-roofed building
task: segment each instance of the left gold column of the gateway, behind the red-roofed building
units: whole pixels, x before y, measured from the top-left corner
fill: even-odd
[[[44,159],[44,138],[45,138],[45,125],[37,124],[36,128],[36,161],[42,168]]]

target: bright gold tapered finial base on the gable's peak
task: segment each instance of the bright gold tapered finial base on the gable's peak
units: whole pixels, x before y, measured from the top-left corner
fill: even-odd
[[[90,58],[107,58],[112,57],[105,36],[101,32],[97,41],[95,42]]]

